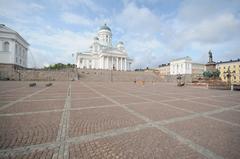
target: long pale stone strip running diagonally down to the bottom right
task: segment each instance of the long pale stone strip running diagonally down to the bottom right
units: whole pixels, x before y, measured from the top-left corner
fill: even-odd
[[[85,84],[85,83],[84,83]],[[100,94],[98,91],[96,91],[94,88],[91,88],[90,86],[88,86],[87,84],[85,84],[86,87],[88,87],[89,89],[92,89],[93,91],[95,91],[96,93]],[[102,94],[102,96],[104,96]],[[109,100],[112,100],[114,103],[118,104],[119,106],[121,106],[120,103],[118,103],[117,101],[115,101],[114,99],[110,98],[110,97],[107,97],[105,96],[106,98],[109,98]],[[204,155],[205,157],[207,158],[213,158],[213,159],[223,159],[223,157],[221,156],[218,156],[217,154],[215,154],[214,152],[208,150],[207,148],[201,146],[201,145],[198,145],[196,143],[194,143],[193,141],[187,139],[187,138],[184,138],[182,137],[181,135],[177,134],[176,132],[173,132],[167,128],[165,128],[164,126],[160,126],[160,125],[157,125],[157,124],[154,124],[154,122],[145,117],[144,115],[138,113],[138,112],[135,112],[134,110],[126,107],[126,106],[121,106],[122,108],[124,108],[126,111],[128,111],[129,113],[133,114],[134,116],[137,116],[141,119],[143,119],[145,122],[147,123],[151,123],[154,127],[158,128],[159,130],[161,130],[162,132],[164,132],[165,134],[167,134],[168,136],[172,137],[173,139],[177,139],[179,142],[187,145],[188,147],[190,147],[192,150]]]

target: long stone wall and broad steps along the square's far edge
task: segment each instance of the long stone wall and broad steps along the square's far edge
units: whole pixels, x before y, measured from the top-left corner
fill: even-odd
[[[155,72],[142,71],[110,71],[94,69],[64,69],[64,70],[44,70],[44,69],[24,69],[16,66],[0,67],[0,79],[23,80],[23,81],[96,81],[96,82],[133,82],[142,80],[146,82],[176,82],[176,75],[159,76]],[[191,75],[184,75],[185,83],[192,82]]]

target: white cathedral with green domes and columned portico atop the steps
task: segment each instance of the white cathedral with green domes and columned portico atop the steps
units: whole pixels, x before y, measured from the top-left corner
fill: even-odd
[[[99,29],[90,49],[76,54],[77,68],[128,71],[132,62],[123,42],[112,45],[112,32],[106,24]]]

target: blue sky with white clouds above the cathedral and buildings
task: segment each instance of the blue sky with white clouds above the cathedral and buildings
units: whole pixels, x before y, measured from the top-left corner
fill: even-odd
[[[135,68],[190,56],[240,58],[240,0],[0,0],[0,23],[30,43],[30,66],[73,63],[99,27],[123,41]]]

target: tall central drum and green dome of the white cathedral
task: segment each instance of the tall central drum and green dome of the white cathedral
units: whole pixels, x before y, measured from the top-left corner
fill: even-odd
[[[112,31],[107,26],[107,24],[104,24],[98,31],[98,38],[100,44],[111,47],[112,46]]]

